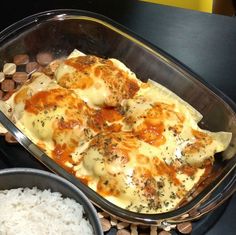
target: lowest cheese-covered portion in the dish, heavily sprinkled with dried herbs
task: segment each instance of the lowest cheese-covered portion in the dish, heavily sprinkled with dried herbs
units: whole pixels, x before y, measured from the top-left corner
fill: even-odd
[[[172,210],[205,168],[167,164],[160,149],[128,132],[103,132],[90,142],[76,176],[108,200],[143,213]]]

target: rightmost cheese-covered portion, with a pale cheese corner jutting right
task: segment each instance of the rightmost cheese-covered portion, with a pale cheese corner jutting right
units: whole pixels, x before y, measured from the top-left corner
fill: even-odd
[[[157,88],[150,89],[158,93]],[[123,102],[126,124],[137,138],[158,147],[169,164],[179,160],[201,166],[227,147],[228,141],[223,139],[230,139],[231,134],[201,130],[188,107],[167,97],[164,103],[160,96],[156,99],[145,94]]]

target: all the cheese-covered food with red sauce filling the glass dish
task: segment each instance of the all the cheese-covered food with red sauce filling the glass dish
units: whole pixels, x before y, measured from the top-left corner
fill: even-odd
[[[117,206],[140,213],[178,208],[230,143],[231,133],[202,130],[192,106],[116,59],[74,50],[52,67],[34,73],[1,110]]]

